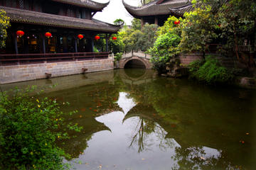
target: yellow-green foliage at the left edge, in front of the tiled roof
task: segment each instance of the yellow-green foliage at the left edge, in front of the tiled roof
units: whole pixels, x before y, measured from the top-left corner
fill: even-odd
[[[9,17],[6,16],[6,11],[0,10],[0,48],[5,47],[5,40],[7,38],[6,29],[9,28]]]

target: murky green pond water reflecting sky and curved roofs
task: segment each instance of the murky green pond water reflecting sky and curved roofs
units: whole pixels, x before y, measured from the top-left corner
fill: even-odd
[[[58,141],[76,169],[256,169],[256,91],[119,69],[2,86],[44,87],[83,127]],[[47,86],[58,84],[55,88]],[[68,101],[70,106],[63,105]],[[64,143],[63,143],[64,142]]]

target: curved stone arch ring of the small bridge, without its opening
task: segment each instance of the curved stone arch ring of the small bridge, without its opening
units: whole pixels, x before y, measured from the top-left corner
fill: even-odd
[[[136,61],[136,62],[141,62],[142,64],[144,64],[145,66],[145,69],[151,69],[152,68],[152,65],[151,65],[151,62],[149,62],[148,59],[146,58],[142,58],[142,57],[137,57],[137,56],[132,56],[132,57],[126,57],[126,58],[123,58],[122,60],[120,60],[119,62],[119,68],[120,69],[124,69],[125,68],[125,65],[129,62],[132,62],[132,61]]]

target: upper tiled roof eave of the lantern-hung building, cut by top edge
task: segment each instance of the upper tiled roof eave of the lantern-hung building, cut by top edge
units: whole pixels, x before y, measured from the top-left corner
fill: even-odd
[[[102,4],[102,3],[91,1],[91,0],[52,0],[52,1],[58,1],[60,3],[70,4],[70,5],[74,5],[74,6],[81,6],[81,7],[85,7],[85,8],[92,8],[97,11],[101,11],[108,4],[110,4],[110,1]]]

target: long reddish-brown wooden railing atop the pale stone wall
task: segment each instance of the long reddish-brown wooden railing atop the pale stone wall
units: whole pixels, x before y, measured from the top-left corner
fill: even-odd
[[[106,59],[110,52],[75,52],[48,54],[0,55],[0,65],[34,64],[42,62],[65,62]]]

